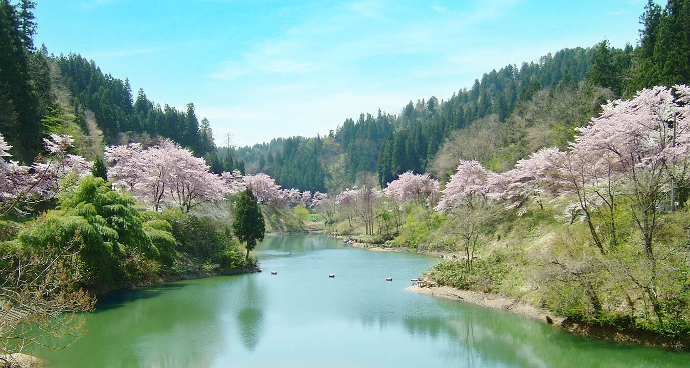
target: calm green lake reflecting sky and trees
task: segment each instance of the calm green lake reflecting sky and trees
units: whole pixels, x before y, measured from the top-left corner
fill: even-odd
[[[101,298],[85,316],[88,336],[34,354],[72,368],[690,367],[687,353],[587,340],[404,291],[436,261],[424,255],[290,235],[267,238],[257,257],[263,273]]]

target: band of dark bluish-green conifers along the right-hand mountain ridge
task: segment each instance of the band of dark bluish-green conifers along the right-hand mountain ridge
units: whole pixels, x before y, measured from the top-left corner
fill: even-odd
[[[618,59],[625,59],[626,55],[629,59],[630,52],[631,49],[611,49]],[[247,162],[249,171],[266,171],[284,186],[322,190],[320,179],[303,184],[283,173],[301,178],[320,178],[319,173],[325,173],[328,191],[342,190],[357,182],[372,184],[373,181],[385,186],[404,171],[426,171],[453,131],[489,115],[496,115],[499,122],[504,122],[518,104],[530,101],[538,91],[561,81],[576,86],[585,79],[594,54],[593,48],[560,50],[553,56],[541,57],[536,63],[525,62],[520,68],[509,65],[492,70],[481,80],[475,80],[471,89],[462,89],[447,101],[439,101],[437,97],[416,104],[409,101],[399,115],[382,111],[376,116],[362,113],[357,120],[346,119],[328,137],[274,139],[270,144],[239,148],[238,155]],[[326,142],[331,150],[306,148],[312,140],[321,143],[311,143],[311,146]],[[314,155],[320,167],[305,164],[313,162]]]

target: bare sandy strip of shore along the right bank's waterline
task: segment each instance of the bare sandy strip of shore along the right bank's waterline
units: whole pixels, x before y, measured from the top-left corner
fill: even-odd
[[[453,287],[417,287],[411,286],[405,289],[406,291],[413,291],[415,293],[422,293],[430,296],[437,296],[440,298],[447,298],[458,300],[461,302],[468,302],[472,304],[481,305],[493,309],[503,309],[504,311],[511,311],[513,313],[535,318],[546,322],[548,316],[555,325],[562,325],[565,318],[558,316],[555,313],[546,309],[534,307],[532,305],[520,302],[519,300],[497,296],[495,294],[478,293],[476,291],[460,290]]]

